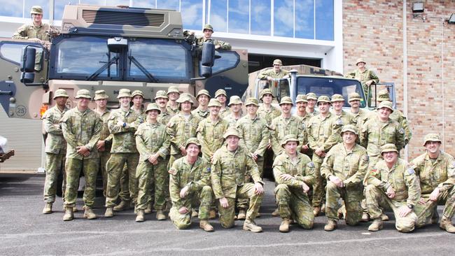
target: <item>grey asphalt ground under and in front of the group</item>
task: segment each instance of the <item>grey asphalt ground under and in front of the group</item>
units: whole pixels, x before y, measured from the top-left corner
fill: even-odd
[[[325,217],[315,219],[314,229],[292,225],[287,234],[278,231],[280,218],[272,217],[274,183],[266,180],[265,199],[256,220],[264,232],[253,234],[241,229],[223,229],[211,221],[215,232],[199,228],[199,220],[187,230],[172,222],[158,221],[155,214],[146,222],[135,222],[133,210],[104,218],[104,198],[97,197],[97,220],[62,221],[62,199],[55,213],[43,215],[44,176],[0,173],[0,255],[454,255],[455,235],[437,225],[411,234],[395,230],[393,216],[380,232],[368,232],[369,223],[347,227],[343,220],[334,232],[325,232]],[[77,207],[83,206],[78,198]],[[438,208],[442,215],[442,206]]]

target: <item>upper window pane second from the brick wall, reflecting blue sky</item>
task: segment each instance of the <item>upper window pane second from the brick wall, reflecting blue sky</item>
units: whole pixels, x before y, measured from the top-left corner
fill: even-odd
[[[314,39],[313,0],[295,0],[295,37]]]

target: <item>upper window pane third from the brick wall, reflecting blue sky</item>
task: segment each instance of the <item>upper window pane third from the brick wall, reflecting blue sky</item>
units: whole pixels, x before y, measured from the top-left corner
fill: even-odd
[[[274,1],[274,36],[294,36],[293,0]]]

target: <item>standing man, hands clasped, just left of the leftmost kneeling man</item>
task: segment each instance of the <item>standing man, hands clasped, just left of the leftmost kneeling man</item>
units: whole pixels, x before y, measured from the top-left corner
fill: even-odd
[[[151,204],[151,185],[155,185],[156,218],[166,220],[165,191],[169,188],[166,155],[169,152],[169,136],[166,126],[158,122],[160,108],[156,104],[148,104],[147,120],[139,125],[136,131],[136,147],[139,151],[139,165],[136,178],[139,184],[137,197],[137,222],[144,221],[144,211]]]

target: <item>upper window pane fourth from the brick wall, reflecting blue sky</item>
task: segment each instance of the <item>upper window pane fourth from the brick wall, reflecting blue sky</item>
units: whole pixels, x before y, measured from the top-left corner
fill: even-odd
[[[251,34],[270,36],[270,0],[251,0]]]

